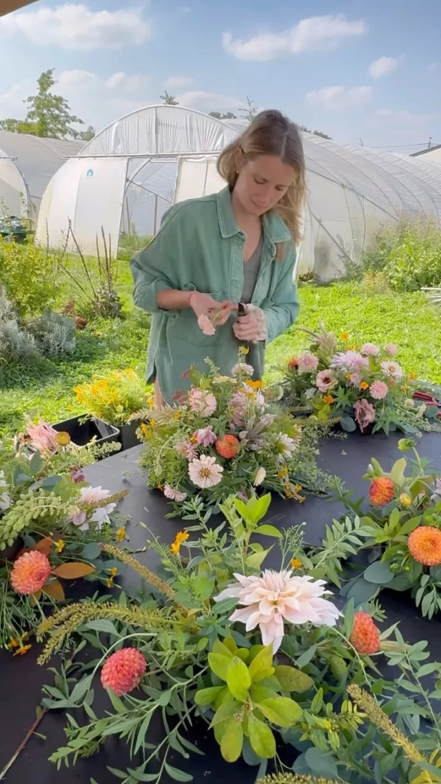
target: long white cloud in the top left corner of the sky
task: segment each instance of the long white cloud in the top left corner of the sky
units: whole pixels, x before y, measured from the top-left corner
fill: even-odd
[[[39,45],[61,49],[121,49],[151,38],[151,23],[141,8],[92,11],[87,5],[38,5],[0,19],[0,38],[23,35]]]

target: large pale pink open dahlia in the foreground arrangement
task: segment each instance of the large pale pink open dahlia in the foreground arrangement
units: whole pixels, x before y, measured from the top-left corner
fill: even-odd
[[[238,584],[228,586],[214,601],[238,597],[241,609],[235,610],[230,621],[246,624],[246,631],[259,626],[264,645],[272,643],[276,652],[283,639],[283,623],[297,626],[313,623],[314,626],[335,626],[341,613],[327,599],[325,580],[313,580],[304,575],[293,577],[291,570],[275,572],[266,569],[261,577],[235,574]]]

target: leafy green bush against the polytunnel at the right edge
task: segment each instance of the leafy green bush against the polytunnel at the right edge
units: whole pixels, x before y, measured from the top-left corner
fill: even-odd
[[[363,267],[383,272],[399,292],[440,285],[441,229],[422,220],[383,226],[363,252]]]

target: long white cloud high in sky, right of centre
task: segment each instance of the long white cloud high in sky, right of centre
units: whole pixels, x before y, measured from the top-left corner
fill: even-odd
[[[275,60],[276,57],[299,54],[308,49],[333,49],[343,38],[366,33],[363,20],[348,21],[344,13],[311,16],[281,33],[261,33],[249,38],[233,39],[231,33],[222,36],[225,52],[239,60]]]

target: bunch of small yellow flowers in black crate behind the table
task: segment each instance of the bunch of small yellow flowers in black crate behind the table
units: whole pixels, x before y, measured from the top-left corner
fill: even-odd
[[[112,425],[124,425],[129,417],[144,408],[150,400],[144,381],[130,368],[113,370],[104,378],[94,377],[90,383],[74,389],[78,403],[98,419]]]

